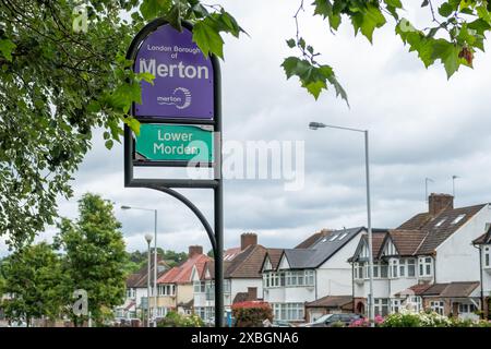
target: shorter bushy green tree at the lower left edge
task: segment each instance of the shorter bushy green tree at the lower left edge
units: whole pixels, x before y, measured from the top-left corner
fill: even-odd
[[[0,291],[13,296],[2,304],[7,318],[27,326],[33,318],[58,318],[64,277],[51,245],[41,242],[14,252],[2,262],[0,274]]]

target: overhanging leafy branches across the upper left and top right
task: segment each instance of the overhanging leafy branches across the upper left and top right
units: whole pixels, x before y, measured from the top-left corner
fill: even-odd
[[[287,79],[297,76],[315,98],[332,87],[347,100],[335,70],[321,63],[320,52],[302,37],[299,20],[309,4],[297,1],[296,35],[286,41],[297,53],[282,64]],[[350,22],[355,35],[372,43],[375,29],[392,25],[424,67],[440,61],[448,77],[462,65],[472,67],[491,29],[488,0],[420,0],[421,11],[432,19],[422,29],[402,16],[409,0],[311,1],[313,14],[326,22],[326,33]],[[139,133],[129,107],[141,103],[139,82],[154,76],[133,74],[124,52],[144,23],[160,16],[182,29],[182,21],[189,21],[203,53],[220,58],[223,35],[246,33],[221,5],[200,0],[77,3],[0,2],[0,234],[17,246],[53,224],[56,196],[71,196],[69,180],[91,147],[94,128],[106,130],[109,148],[120,141],[123,122]],[[131,21],[121,19],[123,11],[131,13]]]

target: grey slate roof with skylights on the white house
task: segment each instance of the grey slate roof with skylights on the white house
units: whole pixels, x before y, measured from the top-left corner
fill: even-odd
[[[284,255],[288,260],[291,269],[316,268],[336,254],[359,232],[363,227],[330,231],[325,237],[320,238],[309,249],[287,249]],[[342,240],[339,240],[339,238]]]

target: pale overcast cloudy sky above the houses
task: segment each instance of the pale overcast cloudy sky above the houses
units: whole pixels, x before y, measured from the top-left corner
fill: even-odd
[[[333,36],[327,24],[301,17],[303,37],[323,55],[347,89],[350,108],[333,92],[318,101],[287,81],[282,59],[295,35],[292,14],[298,1],[223,1],[250,34],[226,37],[223,72],[225,141],[306,141],[306,185],[286,192],[282,181],[225,182],[225,246],[239,244],[244,231],[259,234],[271,248],[294,246],[322,228],[366,225],[364,153],[362,134],[337,130],[308,130],[309,121],[370,130],[373,225],[393,228],[426,208],[424,178],[431,192],[452,192],[456,206],[491,201],[491,55],[478,52],[475,70],[462,68],[451,81],[438,63],[426,70],[408,53],[394,24],[375,32],[371,46],[354,37],[346,19]],[[411,1],[406,1],[411,3]],[[407,10],[412,22],[428,23],[418,3]],[[488,49],[490,45],[487,45]],[[196,218],[179,202],[161,193],[123,185],[122,146],[104,147],[95,133],[93,149],[75,176],[75,196],[60,201],[62,216],[76,217],[76,200],[94,192],[115,203],[128,250],[144,249],[143,236],[153,232],[147,212],[121,210],[121,205],[158,208],[158,245],[187,250],[207,237]],[[213,219],[209,191],[183,191]],[[50,239],[47,229],[39,239]],[[0,242],[0,254],[7,248]]]

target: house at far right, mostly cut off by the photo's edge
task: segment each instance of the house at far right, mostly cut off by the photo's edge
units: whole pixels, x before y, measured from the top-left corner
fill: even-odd
[[[480,299],[481,310],[487,318],[491,317],[491,225],[487,227],[486,232],[472,241],[472,244],[479,249],[480,264]]]

